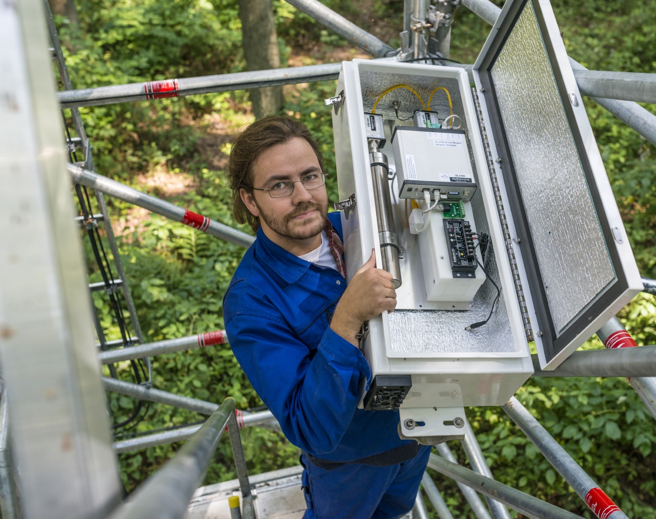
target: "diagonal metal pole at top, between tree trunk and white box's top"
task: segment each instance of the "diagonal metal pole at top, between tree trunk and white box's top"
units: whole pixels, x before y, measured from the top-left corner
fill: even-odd
[[[353,22],[349,22],[344,16],[325,7],[318,0],[289,0],[289,3],[376,58],[393,55],[395,52],[392,47],[380,41],[373,34],[369,34]]]

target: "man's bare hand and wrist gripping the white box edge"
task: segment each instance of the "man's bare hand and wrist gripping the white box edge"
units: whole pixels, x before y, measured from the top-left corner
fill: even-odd
[[[338,336],[358,346],[356,335],[362,323],[394,308],[396,291],[392,275],[376,268],[376,255],[372,250],[371,258],[356,272],[337,303],[330,327]]]

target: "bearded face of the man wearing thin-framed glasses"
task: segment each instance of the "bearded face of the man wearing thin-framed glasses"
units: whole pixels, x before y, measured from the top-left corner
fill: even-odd
[[[267,189],[283,180],[300,180],[320,172],[312,147],[297,137],[260,154],[253,164],[253,187]],[[308,191],[301,182],[296,182],[291,195],[275,199],[268,191],[247,193],[242,189],[240,194],[249,211],[260,218],[262,227],[268,226],[285,238],[306,240],[321,233],[325,226],[328,214],[325,185]]]

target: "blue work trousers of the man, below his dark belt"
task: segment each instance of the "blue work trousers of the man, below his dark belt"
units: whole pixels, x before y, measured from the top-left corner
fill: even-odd
[[[430,446],[388,467],[345,463],[326,471],[302,455],[308,510],[303,519],[396,519],[415,505]]]

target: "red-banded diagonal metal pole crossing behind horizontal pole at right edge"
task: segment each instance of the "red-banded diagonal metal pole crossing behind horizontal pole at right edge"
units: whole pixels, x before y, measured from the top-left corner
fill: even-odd
[[[636,341],[633,340],[633,337],[630,336],[617,317],[611,318],[611,320],[604,324],[597,332],[597,336],[604,343],[604,346],[610,349],[609,351],[625,353],[646,352],[644,349],[645,346],[637,348]],[[649,350],[656,353],[656,347],[647,347],[647,351]],[[656,377],[654,376],[656,375],[656,366],[654,365],[654,356],[650,355],[649,359],[645,359],[644,362],[653,368],[649,374],[651,376],[636,376],[629,372],[627,374],[629,375],[628,382],[633,386],[633,389],[636,390],[636,393],[638,393],[638,396],[645,403],[651,415],[656,419]]]

